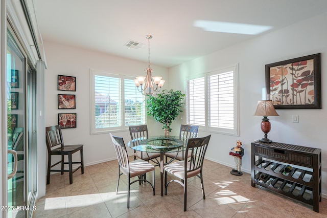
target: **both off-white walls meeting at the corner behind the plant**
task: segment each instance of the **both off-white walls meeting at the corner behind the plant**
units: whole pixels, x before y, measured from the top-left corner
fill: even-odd
[[[242,171],[250,172],[251,142],[263,138],[260,129],[262,117],[254,117],[256,103],[261,100],[261,90],[265,87],[265,64],[291,58],[321,53],[321,96],[327,93],[324,84],[327,77],[327,14],[296,23],[276,30],[239,45],[218,51],[190,62],[169,69],[152,66],[155,75],[161,75],[167,81],[166,89],[185,92],[185,77],[217,70],[239,63],[239,123],[240,136],[228,136],[209,132],[200,132],[201,136],[212,134],[206,157],[218,163],[233,167],[233,158],[228,155],[236,140],[243,142],[245,155],[242,159]],[[63,129],[66,144],[83,143],[86,165],[115,158],[108,134],[90,135],[90,86],[89,69],[124,75],[141,75],[147,63],[91,52],[79,48],[44,42],[48,60],[45,73],[46,126],[56,125],[58,113],[77,113],[77,128]],[[57,110],[57,75],[77,77],[76,110]],[[272,129],[268,138],[284,142],[322,149],[323,166],[326,163],[327,148],[324,146],[323,134],[327,121],[326,103],[322,99],[321,110],[277,110],[279,117],[269,117]],[[292,123],[292,115],[299,115],[299,123]],[[185,123],[184,113],[173,122],[173,135],[177,135],[179,125]],[[161,125],[148,117],[150,134],[162,134]],[[130,139],[128,131],[115,133]],[[132,152],[132,151],[130,151]],[[322,167],[322,192],[327,193],[326,167]]]

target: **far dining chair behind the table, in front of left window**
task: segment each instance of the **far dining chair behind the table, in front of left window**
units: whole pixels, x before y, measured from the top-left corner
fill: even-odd
[[[129,126],[129,133],[131,135],[132,140],[141,138],[141,137],[147,137],[147,138],[149,137],[147,125]],[[137,143],[137,142],[133,142],[133,143]],[[148,162],[150,160],[153,160],[153,162],[157,164],[158,160],[154,161],[154,159],[159,158],[159,157],[160,157],[160,154],[158,154],[158,153],[134,150],[134,160],[136,160],[136,158],[142,159],[142,160],[145,160]]]

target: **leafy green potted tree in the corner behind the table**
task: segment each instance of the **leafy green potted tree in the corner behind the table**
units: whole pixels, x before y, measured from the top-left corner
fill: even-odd
[[[164,124],[165,136],[169,136],[172,128],[170,124],[179,115],[184,99],[184,94],[181,91],[167,91],[164,90],[156,97],[149,96],[146,107],[148,108],[148,115],[152,116],[156,121]]]

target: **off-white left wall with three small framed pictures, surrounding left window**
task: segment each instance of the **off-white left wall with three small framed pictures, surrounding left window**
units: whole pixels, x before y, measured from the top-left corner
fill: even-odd
[[[103,72],[141,76],[148,63],[129,60],[103,53],[44,42],[48,70],[45,71],[45,126],[58,124],[58,113],[77,113],[77,128],[62,129],[64,142],[68,144],[84,144],[84,163],[92,165],[115,159],[115,152],[109,134],[90,135],[90,69]],[[168,69],[154,66],[154,75],[168,80]],[[76,92],[58,91],[57,75],[76,76]],[[164,86],[165,87],[165,86]],[[76,110],[58,110],[57,94],[76,95]],[[160,124],[148,118],[149,133],[162,134]],[[124,137],[125,144],[130,140],[129,131],[116,132]],[[44,143],[45,146],[45,143]],[[130,154],[133,153],[129,150]],[[76,154],[76,158],[79,154]]]

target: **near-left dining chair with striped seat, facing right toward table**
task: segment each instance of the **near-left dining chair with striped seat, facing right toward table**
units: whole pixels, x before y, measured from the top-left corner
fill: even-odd
[[[129,208],[130,185],[133,184],[134,182],[138,182],[138,181],[148,182],[153,189],[153,195],[154,195],[154,169],[155,169],[155,167],[152,164],[150,164],[147,161],[142,160],[142,159],[137,159],[132,162],[129,162],[128,154],[127,154],[127,150],[126,150],[126,146],[125,146],[123,138],[113,136],[111,133],[110,133],[110,137],[111,137],[114,149],[116,151],[117,161],[118,161],[118,165],[119,165],[116,194],[118,194],[119,179],[124,174],[127,176],[127,208]],[[151,171],[152,171],[152,184],[148,180],[142,179],[142,177],[141,177],[145,173],[151,172]],[[138,177],[138,179],[131,182],[130,179],[133,177]]]

